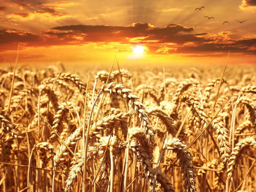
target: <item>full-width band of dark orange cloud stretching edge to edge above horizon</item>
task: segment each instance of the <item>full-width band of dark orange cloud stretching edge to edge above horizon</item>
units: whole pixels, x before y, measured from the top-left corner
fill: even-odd
[[[149,23],[128,26],[70,25],[58,26],[39,35],[13,29],[0,31],[0,51],[17,50],[17,44],[26,47],[91,45],[104,52],[127,51],[127,46],[142,44],[148,54],[207,55],[231,53],[256,54],[256,38],[232,39],[230,31],[216,34],[195,33],[193,27],[170,24],[156,27]],[[35,57],[35,56],[31,56]]]

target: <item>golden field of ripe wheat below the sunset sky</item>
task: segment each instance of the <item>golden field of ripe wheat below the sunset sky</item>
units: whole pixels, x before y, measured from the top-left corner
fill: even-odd
[[[252,71],[114,69],[0,69],[1,191],[256,190]]]

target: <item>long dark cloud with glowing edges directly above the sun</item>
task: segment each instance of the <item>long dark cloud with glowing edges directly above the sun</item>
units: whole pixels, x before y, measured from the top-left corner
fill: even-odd
[[[84,35],[84,41],[91,42],[120,42],[129,43],[132,38],[143,38],[140,43],[185,43],[186,41],[207,41],[204,38],[188,34],[194,31],[193,27],[185,27],[180,24],[166,25],[164,28],[155,27],[148,23],[133,23],[126,27],[106,25],[70,25],[52,28],[46,34],[55,36]]]

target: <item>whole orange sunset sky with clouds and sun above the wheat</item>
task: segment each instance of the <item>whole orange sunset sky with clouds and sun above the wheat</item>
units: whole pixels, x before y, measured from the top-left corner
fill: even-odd
[[[256,0],[4,0],[0,62],[19,43],[22,63],[254,63],[255,18]]]

